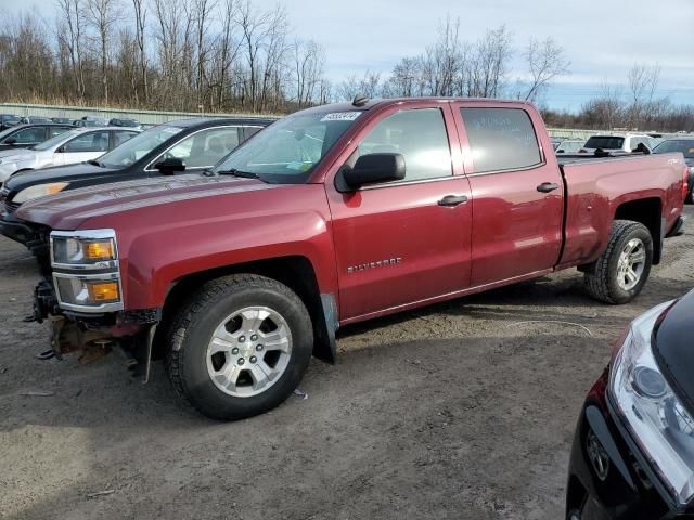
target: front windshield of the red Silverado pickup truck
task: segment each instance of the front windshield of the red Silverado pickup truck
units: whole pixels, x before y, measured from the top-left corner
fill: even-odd
[[[297,113],[273,122],[213,170],[300,184],[363,110]]]

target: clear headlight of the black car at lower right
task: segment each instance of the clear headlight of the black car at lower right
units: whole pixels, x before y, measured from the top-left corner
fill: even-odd
[[[659,315],[671,302],[652,309],[631,324],[613,360],[609,392],[617,413],[642,452],[653,463],[673,498],[694,498],[694,417],[660,373],[651,337]]]

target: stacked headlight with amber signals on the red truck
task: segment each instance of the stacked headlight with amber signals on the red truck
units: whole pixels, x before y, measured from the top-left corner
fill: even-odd
[[[51,265],[61,308],[82,312],[123,310],[113,230],[52,232]]]

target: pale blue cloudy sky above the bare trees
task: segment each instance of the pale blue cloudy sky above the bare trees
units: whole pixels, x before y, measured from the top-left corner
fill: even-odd
[[[130,2],[130,0],[123,0]],[[3,12],[39,9],[53,17],[53,0],[0,0]],[[547,92],[545,103],[577,109],[601,84],[626,83],[634,62],[659,64],[658,95],[694,104],[694,0],[285,0],[294,34],[326,50],[326,74],[339,81],[367,69],[385,75],[402,56],[433,44],[447,13],[461,18],[463,39],[505,24],[513,34],[509,80],[524,72],[520,50],[534,36],[553,37],[571,74]],[[253,0],[272,9],[275,0]]]

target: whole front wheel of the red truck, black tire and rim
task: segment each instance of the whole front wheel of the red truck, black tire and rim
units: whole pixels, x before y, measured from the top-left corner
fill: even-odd
[[[313,330],[288,287],[240,274],[203,285],[174,321],[169,344],[179,396],[210,418],[234,420],[286,400],[308,367]]]

